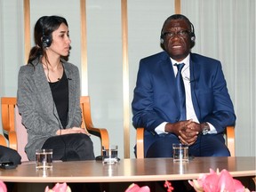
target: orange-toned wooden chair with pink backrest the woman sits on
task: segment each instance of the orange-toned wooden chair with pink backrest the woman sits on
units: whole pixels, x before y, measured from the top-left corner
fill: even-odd
[[[21,161],[28,161],[28,156],[24,151],[24,148],[28,142],[28,133],[26,128],[21,124],[21,116],[17,108],[17,99],[15,97],[2,97],[2,124],[4,130],[4,136],[9,141],[9,148],[13,148],[18,151],[21,156]],[[86,127],[88,132],[92,135],[100,137],[101,146],[108,148],[108,131],[104,128],[95,128],[92,124],[90,97],[81,96],[80,106],[82,109],[82,127]],[[19,135],[19,137],[17,137]],[[4,141],[0,137],[0,144]],[[6,143],[5,143],[6,146]],[[102,153],[102,152],[101,152]]]

